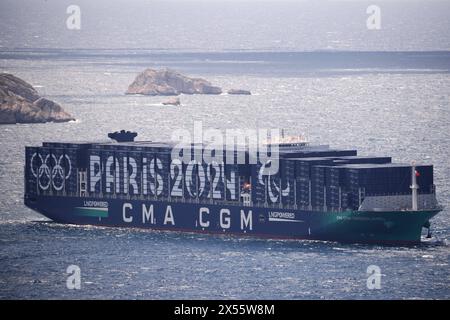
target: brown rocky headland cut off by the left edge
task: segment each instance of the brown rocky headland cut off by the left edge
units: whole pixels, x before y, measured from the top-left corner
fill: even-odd
[[[0,124],[65,122],[74,118],[59,104],[42,98],[27,82],[0,73]]]

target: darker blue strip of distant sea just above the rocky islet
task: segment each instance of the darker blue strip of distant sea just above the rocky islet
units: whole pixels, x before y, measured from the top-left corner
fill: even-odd
[[[8,60],[120,63],[136,70],[168,67],[194,74],[304,75],[361,73],[450,73],[450,51],[178,51],[148,49],[2,49]],[[1,69],[0,69],[1,70]],[[110,71],[108,71],[110,72]]]

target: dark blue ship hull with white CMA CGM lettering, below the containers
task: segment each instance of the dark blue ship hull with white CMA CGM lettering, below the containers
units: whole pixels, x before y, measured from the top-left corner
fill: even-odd
[[[230,204],[38,196],[29,208],[63,224],[264,238],[416,244],[439,210],[319,212]]]

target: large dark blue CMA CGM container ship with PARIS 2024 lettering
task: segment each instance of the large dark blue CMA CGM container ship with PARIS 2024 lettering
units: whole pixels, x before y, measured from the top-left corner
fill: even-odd
[[[280,139],[266,174],[245,146],[245,163],[198,161],[202,144],[180,161],[136,135],[26,147],[25,205],[64,224],[377,244],[420,243],[442,210],[432,165]]]

